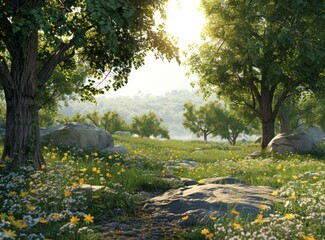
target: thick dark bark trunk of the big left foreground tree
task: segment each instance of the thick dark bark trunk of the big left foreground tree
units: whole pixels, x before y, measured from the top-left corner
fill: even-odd
[[[10,168],[32,162],[35,169],[45,164],[38,126],[38,34],[30,33],[26,42],[7,42],[11,54],[10,70],[2,63],[2,82],[7,104],[6,135],[2,159]]]

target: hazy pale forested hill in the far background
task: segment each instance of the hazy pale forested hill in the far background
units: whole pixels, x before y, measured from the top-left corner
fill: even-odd
[[[115,98],[100,96],[96,100],[96,105],[89,102],[70,101],[68,106],[62,106],[60,113],[63,116],[72,116],[76,113],[91,113],[94,110],[99,113],[116,111],[126,122],[130,123],[135,115],[152,110],[163,119],[163,125],[169,129],[171,138],[185,140],[196,137],[182,125],[184,103],[191,101],[196,105],[204,104],[202,95],[187,90],[175,90],[162,96],[143,94],[135,97]]]

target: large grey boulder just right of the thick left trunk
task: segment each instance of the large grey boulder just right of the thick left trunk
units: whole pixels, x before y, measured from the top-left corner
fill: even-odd
[[[77,122],[60,124],[41,129],[43,144],[54,146],[90,148],[103,150],[114,147],[114,140],[109,132],[91,124]]]

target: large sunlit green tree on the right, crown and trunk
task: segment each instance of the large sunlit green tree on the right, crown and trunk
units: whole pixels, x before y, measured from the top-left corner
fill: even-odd
[[[188,57],[205,93],[247,106],[261,121],[262,149],[283,102],[324,89],[324,3],[203,0],[204,43]]]

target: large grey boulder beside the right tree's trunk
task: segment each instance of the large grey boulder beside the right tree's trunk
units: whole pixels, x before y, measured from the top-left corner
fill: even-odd
[[[315,125],[309,129],[304,126],[278,134],[267,146],[269,152],[275,153],[303,153],[313,151],[316,144],[323,142],[324,132]]]

